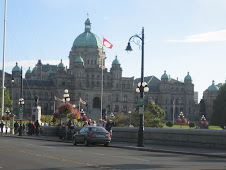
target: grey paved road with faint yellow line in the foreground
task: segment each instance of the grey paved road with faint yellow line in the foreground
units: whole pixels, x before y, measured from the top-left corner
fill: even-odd
[[[226,159],[0,136],[0,169],[226,169]]]

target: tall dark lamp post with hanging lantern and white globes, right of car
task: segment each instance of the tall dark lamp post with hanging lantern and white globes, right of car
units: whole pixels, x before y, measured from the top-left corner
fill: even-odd
[[[140,41],[133,41],[135,38],[138,38]],[[141,82],[138,83],[138,87],[136,88],[136,92],[140,93],[140,102],[139,102],[139,114],[140,114],[140,126],[138,131],[138,147],[144,147],[144,92],[148,91],[147,83],[144,82],[144,28],[142,28],[142,36],[133,35],[129,38],[128,45],[126,47],[126,51],[132,51],[130,46],[130,41],[134,42],[135,44],[141,47]],[[146,84],[145,84],[146,83]]]

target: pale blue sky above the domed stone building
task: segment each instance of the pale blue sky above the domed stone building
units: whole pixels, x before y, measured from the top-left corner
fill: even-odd
[[[84,32],[87,13],[91,31],[113,44],[106,52],[107,67],[115,56],[123,76],[140,77],[141,51],[125,51],[129,38],[145,32],[144,73],[183,81],[187,72],[195,91],[226,79],[225,0],[8,0],[6,71],[16,61],[26,71],[37,60],[58,64],[68,55],[75,38]],[[4,0],[0,1],[0,47],[3,46]],[[2,55],[3,48],[0,48]],[[0,67],[2,67],[0,57]]]

